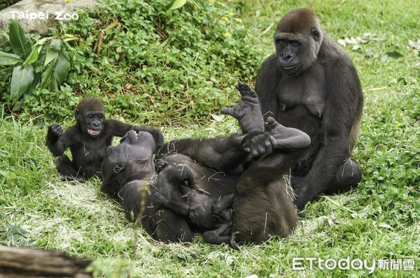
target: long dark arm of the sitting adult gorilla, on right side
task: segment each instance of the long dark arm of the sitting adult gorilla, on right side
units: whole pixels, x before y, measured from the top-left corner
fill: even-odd
[[[298,210],[302,210],[307,201],[325,191],[330,182],[337,178],[337,169],[350,157],[350,133],[362,114],[363,94],[353,65],[345,61],[336,62],[325,68],[325,76],[328,77],[325,82],[327,104],[321,125],[324,135],[321,148],[309,173],[292,180]]]

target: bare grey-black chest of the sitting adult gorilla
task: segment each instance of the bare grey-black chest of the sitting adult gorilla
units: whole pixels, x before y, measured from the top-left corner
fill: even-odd
[[[322,117],[325,108],[325,75],[321,66],[313,66],[291,78],[281,78],[277,88],[281,110],[304,105],[311,115]]]

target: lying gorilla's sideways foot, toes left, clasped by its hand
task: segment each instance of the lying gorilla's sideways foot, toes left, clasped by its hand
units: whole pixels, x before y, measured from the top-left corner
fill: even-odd
[[[269,140],[272,142],[274,149],[300,149],[311,144],[311,138],[300,131],[291,127],[282,126],[272,117],[267,118],[271,136]]]

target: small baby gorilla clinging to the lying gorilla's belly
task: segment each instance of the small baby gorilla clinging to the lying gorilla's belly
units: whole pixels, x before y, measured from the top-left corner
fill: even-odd
[[[186,164],[156,161],[158,190],[153,203],[187,219],[195,231],[211,244],[228,243],[237,249],[232,235],[233,194],[219,199],[195,185],[194,175]]]

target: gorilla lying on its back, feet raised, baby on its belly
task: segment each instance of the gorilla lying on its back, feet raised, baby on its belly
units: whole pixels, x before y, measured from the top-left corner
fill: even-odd
[[[293,192],[283,175],[309,136],[272,118],[265,131],[255,92],[246,84],[237,89],[242,100],[222,112],[238,119],[243,134],[172,140],[156,163],[148,133],[129,131],[107,149],[102,191],[156,240],[188,242],[199,232],[207,242],[236,247],[235,235],[238,242],[262,242],[295,228]]]

